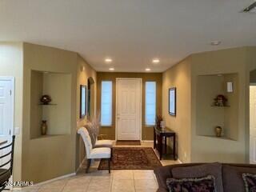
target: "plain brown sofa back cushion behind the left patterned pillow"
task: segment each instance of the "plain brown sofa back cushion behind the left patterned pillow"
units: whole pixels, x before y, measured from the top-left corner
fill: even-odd
[[[216,191],[223,192],[222,164],[218,162],[206,163],[200,166],[176,167],[172,169],[174,178],[202,178],[213,175],[216,179]]]

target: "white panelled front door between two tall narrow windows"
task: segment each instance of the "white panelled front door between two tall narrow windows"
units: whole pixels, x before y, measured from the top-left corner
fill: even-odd
[[[117,78],[117,139],[140,140],[142,79]]]

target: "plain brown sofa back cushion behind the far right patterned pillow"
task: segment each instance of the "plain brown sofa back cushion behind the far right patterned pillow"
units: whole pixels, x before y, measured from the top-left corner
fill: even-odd
[[[222,181],[224,191],[246,192],[242,179],[243,173],[256,174],[256,167],[222,166]]]

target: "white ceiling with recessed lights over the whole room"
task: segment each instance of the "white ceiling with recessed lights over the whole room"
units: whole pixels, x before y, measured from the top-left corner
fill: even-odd
[[[239,13],[252,1],[0,0],[0,41],[73,50],[98,71],[162,72],[195,52],[256,46],[256,14]]]

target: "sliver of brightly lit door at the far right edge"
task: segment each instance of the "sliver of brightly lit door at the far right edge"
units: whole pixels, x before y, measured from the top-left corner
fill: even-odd
[[[256,85],[250,86],[250,163],[256,164]]]

